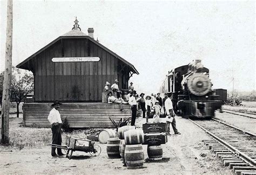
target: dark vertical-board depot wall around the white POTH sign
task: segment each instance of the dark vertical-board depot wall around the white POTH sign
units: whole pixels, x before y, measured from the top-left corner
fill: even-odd
[[[99,57],[98,62],[52,62],[61,57]],[[85,38],[61,39],[30,60],[35,78],[35,102],[101,101],[106,81],[119,80],[127,89],[130,69],[124,63]]]

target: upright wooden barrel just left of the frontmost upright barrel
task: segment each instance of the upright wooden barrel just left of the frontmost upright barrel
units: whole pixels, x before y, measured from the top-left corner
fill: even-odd
[[[120,139],[117,137],[109,138],[107,140],[107,156],[109,156],[109,158],[121,158],[119,152],[119,144]]]

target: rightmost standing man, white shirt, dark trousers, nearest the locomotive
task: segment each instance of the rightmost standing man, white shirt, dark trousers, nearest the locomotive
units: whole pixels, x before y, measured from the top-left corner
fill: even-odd
[[[176,121],[174,118],[174,113],[173,113],[173,106],[172,106],[172,93],[168,93],[168,98],[165,100],[165,110],[167,114],[167,120],[166,120],[166,125],[167,125],[167,135],[170,134],[170,124],[172,123],[172,129],[174,131],[174,134],[180,134],[176,128]]]

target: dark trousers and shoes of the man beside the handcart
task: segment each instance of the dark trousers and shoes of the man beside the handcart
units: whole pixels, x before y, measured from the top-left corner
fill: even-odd
[[[52,126],[51,131],[52,131],[52,144],[62,145],[62,132],[61,132],[62,131],[62,124]],[[51,155],[56,155],[55,150],[56,150],[56,148],[51,148]],[[58,155],[61,152],[62,152],[62,149],[57,148]]]

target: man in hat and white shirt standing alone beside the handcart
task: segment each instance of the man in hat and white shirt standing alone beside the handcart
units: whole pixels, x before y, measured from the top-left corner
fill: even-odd
[[[58,100],[55,100],[53,104],[51,105],[52,110],[50,111],[50,114],[48,116],[48,121],[51,124],[51,131],[52,131],[52,144],[56,145],[62,145],[62,118],[60,118],[59,114],[59,107],[60,103]],[[56,148],[51,148],[51,156],[63,156],[62,149],[57,148],[57,153],[55,152]]]

